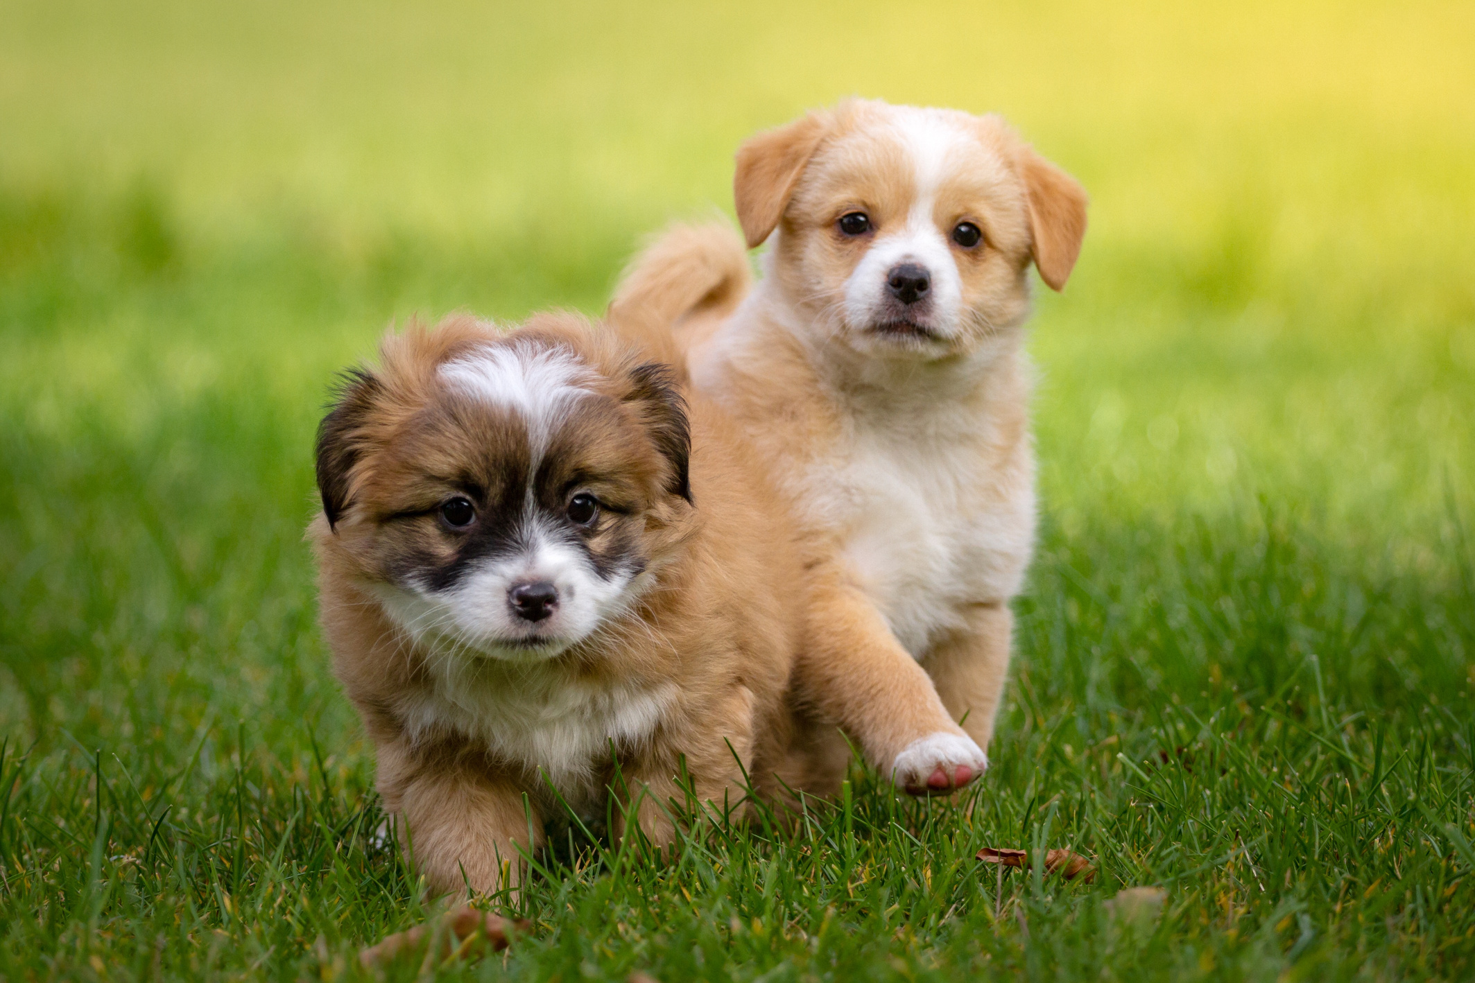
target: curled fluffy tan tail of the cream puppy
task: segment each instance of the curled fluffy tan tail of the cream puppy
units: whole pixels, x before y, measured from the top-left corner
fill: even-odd
[[[678,324],[692,314],[724,317],[751,284],[748,248],[729,225],[673,225],[625,270],[605,317],[684,380],[690,339]]]

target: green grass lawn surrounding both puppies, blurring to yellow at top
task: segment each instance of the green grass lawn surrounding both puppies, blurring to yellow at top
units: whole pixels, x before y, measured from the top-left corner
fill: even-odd
[[[1475,9],[897,16],[0,0],[0,979],[332,979],[423,917],[314,626],[333,370],[597,311],[853,91],[1002,109],[1093,193],[996,766],[664,865],[562,840],[444,976],[1475,976]],[[982,846],[1099,875],[996,896]]]

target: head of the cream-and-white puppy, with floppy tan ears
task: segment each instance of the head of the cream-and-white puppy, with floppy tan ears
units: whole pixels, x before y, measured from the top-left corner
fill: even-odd
[[[1028,312],[1031,261],[1065,284],[1086,195],[999,118],[842,103],[738,153],[749,246],[814,340],[878,357],[976,349]]]

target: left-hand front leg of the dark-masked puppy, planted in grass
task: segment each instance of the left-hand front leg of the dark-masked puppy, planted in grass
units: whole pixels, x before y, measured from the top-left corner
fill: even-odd
[[[543,842],[535,811],[528,840],[521,790],[475,758],[426,762],[381,749],[379,791],[385,808],[409,824],[412,861],[435,893],[516,889],[524,868],[518,846]]]

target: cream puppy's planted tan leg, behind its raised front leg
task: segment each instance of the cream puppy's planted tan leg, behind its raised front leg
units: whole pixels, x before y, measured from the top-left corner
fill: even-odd
[[[994,737],[994,718],[1009,675],[1013,612],[994,601],[968,610],[968,629],[943,640],[922,659],[953,719],[985,752]]]

